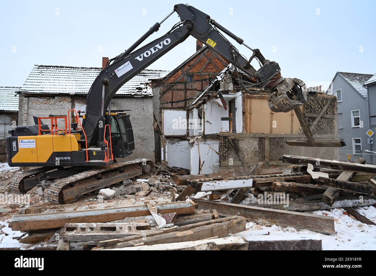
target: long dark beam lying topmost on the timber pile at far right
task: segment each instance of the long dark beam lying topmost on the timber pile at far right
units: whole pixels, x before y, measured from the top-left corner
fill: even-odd
[[[352,172],[365,172],[376,174],[376,166],[369,164],[355,164],[349,162],[341,162],[336,160],[326,160],[320,158],[311,158],[296,155],[284,155],[283,163],[306,165],[312,164],[314,167],[332,169],[332,170],[350,170]]]

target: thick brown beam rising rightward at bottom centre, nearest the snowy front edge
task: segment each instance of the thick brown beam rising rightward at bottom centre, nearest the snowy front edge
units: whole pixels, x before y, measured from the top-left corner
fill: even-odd
[[[211,225],[205,225],[200,227],[191,228],[185,231],[175,231],[170,233],[160,233],[158,235],[149,236],[146,234],[142,238],[136,238],[132,240],[132,237],[128,238],[128,241],[117,243],[110,246],[110,248],[122,248],[134,246],[135,244],[143,245],[153,245],[153,244],[164,244],[164,243],[177,243],[185,241],[197,241],[204,238],[210,238],[213,236],[226,237],[229,234],[235,234],[238,232],[245,231],[246,220],[243,217],[232,216],[227,217],[222,222],[223,219],[217,219],[212,221],[217,221]],[[184,226],[183,226],[184,227]],[[137,236],[135,236],[137,237]],[[100,249],[100,244],[97,249]],[[107,249],[108,247],[106,247]]]

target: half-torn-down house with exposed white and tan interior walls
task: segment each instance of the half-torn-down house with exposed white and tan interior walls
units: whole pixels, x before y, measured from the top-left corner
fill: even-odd
[[[252,81],[246,74],[240,76]],[[255,95],[244,92],[229,65],[190,102],[188,120],[184,110],[162,110],[164,160],[199,174],[247,171],[259,161],[266,168],[282,166],[283,154],[338,159],[337,148],[287,145],[287,140],[305,139],[294,110],[272,112],[268,90],[253,90]],[[311,90],[301,110],[309,125],[315,121],[314,137],[338,139],[337,101],[320,87]]]

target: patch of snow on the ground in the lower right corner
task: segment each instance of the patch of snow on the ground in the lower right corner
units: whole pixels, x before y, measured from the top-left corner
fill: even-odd
[[[376,208],[357,207],[354,208],[363,216],[376,222]],[[327,215],[334,217],[335,234],[320,234],[309,230],[300,230],[291,227],[283,227],[277,225],[264,226],[249,222],[246,228],[249,230],[240,232],[236,236],[254,236],[277,235],[277,238],[285,236],[287,239],[299,236],[314,236],[322,240],[323,250],[374,250],[376,248],[376,226],[367,225],[359,222],[359,220],[352,219],[347,214],[344,214],[343,209],[332,209],[331,211],[314,211],[313,214]]]

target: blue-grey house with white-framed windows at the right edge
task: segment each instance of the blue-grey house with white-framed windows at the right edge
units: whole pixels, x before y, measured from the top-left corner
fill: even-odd
[[[369,129],[376,133],[375,84],[376,77],[372,74],[337,72],[326,92],[335,95],[338,101],[338,138],[346,143],[339,149],[341,161],[346,161],[348,154],[354,161],[363,153],[367,163],[376,163],[376,155],[364,152],[376,151],[376,143],[369,144],[366,134]]]

